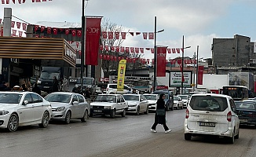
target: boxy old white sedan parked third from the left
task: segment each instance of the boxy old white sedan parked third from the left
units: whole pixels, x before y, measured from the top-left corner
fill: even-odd
[[[90,103],[90,116],[110,115],[112,118],[120,114],[126,116],[128,102],[121,94],[99,94]]]

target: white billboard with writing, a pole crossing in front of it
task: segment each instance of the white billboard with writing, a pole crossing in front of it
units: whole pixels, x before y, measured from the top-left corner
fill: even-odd
[[[184,87],[191,87],[192,84],[192,71],[183,71]],[[181,87],[181,71],[170,71],[170,87]]]

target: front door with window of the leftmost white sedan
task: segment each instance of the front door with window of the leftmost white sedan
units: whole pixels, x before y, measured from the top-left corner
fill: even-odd
[[[20,108],[18,109],[18,113],[20,115],[19,118],[19,123],[23,124],[23,123],[27,123],[27,122],[32,122],[35,120],[35,108],[34,108],[34,104],[32,103],[32,98],[31,95],[29,93],[26,93],[24,95],[24,100],[27,100],[27,104],[22,104],[22,106],[20,106]],[[23,103],[24,103],[23,100]]]

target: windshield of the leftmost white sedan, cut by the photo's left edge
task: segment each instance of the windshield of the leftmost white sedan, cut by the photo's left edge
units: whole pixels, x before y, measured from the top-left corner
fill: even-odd
[[[19,104],[21,97],[20,93],[0,93],[0,103]]]

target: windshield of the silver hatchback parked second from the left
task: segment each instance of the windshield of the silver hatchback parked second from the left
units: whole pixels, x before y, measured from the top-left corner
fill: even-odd
[[[71,100],[71,95],[60,94],[60,93],[49,93],[45,97],[45,99],[48,100],[49,102],[69,103]]]

